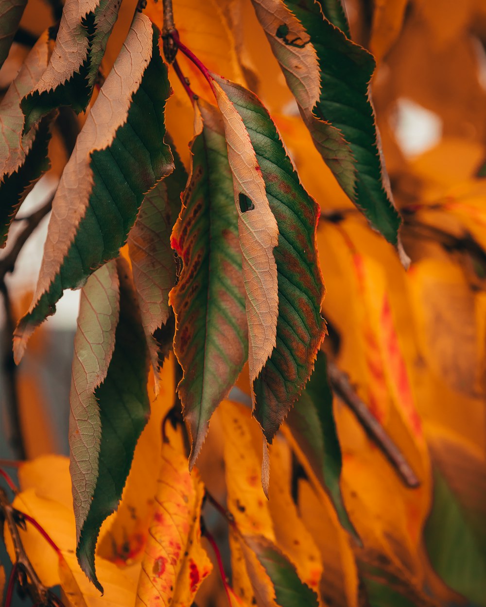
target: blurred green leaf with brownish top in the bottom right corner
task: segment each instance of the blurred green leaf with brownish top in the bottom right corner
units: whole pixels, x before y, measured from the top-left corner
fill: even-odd
[[[425,526],[430,561],[443,581],[486,605],[486,466],[455,439],[430,442],[433,506]]]

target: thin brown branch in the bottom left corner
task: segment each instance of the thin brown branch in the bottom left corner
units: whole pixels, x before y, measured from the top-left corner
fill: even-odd
[[[43,585],[36,574],[29,557],[27,557],[24,544],[22,544],[18,531],[18,526],[22,526],[22,520],[19,519],[15,508],[10,504],[7,493],[1,488],[0,518],[4,518],[5,523],[7,523],[15,552],[15,563],[13,563],[12,577],[9,582],[10,598],[12,597],[13,585],[17,582],[22,590],[29,595],[34,605],[61,607],[63,604],[48,588],[46,588],[46,586]],[[7,605],[5,605],[5,607],[7,607]]]

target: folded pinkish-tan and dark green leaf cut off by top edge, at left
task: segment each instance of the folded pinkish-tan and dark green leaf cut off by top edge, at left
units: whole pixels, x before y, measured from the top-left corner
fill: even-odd
[[[49,65],[22,99],[26,132],[58,106],[86,109],[120,2],[66,0]]]

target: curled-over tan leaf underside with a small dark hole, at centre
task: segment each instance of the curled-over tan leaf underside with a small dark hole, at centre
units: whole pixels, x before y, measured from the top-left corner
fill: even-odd
[[[278,282],[273,249],[278,244],[278,226],[270,210],[250,135],[221,83],[215,81],[214,90],[223,116],[228,161],[233,173],[234,203],[239,215],[248,322],[248,367],[253,381],[276,343]]]

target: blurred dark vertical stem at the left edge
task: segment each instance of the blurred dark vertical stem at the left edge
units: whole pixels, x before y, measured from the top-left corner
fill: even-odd
[[[15,262],[14,262],[15,263]],[[26,459],[26,443],[22,432],[22,421],[20,418],[20,404],[17,385],[17,367],[13,360],[12,335],[15,330],[12,302],[9,290],[4,279],[0,279],[0,293],[4,304],[5,325],[2,330],[1,358],[2,375],[5,378],[4,395],[7,402],[10,421],[9,443],[14,456],[18,459]]]

